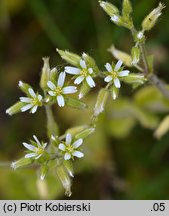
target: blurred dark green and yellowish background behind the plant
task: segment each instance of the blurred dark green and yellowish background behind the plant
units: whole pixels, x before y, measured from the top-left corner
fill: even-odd
[[[110,2],[121,8],[122,1]],[[139,29],[158,1],[132,3]],[[159,77],[169,83],[169,5],[164,3],[162,17],[147,34],[147,48]],[[126,52],[133,45],[128,31],[112,24],[97,0],[0,0],[0,161],[7,162],[0,167],[0,199],[67,199],[55,173],[42,183],[35,169],[8,167],[23,156],[23,141],[33,134],[47,139],[44,110],[13,117],[5,110],[21,95],[19,80],[38,88],[43,56],[50,56],[52,66],[65,64],[56,47],[85,51],[103,68],[113,60],[106,51],[112,43]],[[97,90],[85,98],[85,112],[54,107],[62,133],[90,121]],[[136,91],[124,86],[119,100],[110,98],[97,132],[83,146],[85,157],[75,162],[70,199],[169,199],[169,134],[161,140],[153,136],[168,111],[169,102],[151,86]]]

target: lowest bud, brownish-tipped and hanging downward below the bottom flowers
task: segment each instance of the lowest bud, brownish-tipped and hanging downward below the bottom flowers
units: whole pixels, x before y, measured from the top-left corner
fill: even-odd
[[[58,178],[60,179],[64,189],[65,189],[65,195],[70,197],[72,192],[71,192],[71,179],[69,177],[69,174],[66,170],[66,168],[61,165],[56,167],[56,173]]]

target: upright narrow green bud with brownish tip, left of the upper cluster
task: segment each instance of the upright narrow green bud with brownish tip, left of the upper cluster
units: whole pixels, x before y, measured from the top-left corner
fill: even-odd
[[[42,68],[42,75],[40,80],[40,86],[43,90],[47,88],[47,82],[50,79],[50,66],[49,66],[49,58],[43,58],[44,65]]]

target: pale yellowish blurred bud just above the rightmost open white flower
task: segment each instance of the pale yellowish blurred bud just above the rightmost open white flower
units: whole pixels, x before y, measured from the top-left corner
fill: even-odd
[[[118,49],[115,48],[114,45],[112,45],[108,51],[114,56],[114,58],[116,58],[117,60],[121,60],[123,62],[123,64],[125,64],[128,67],[131,67],[131,61],[132,58],[129,54],[122,52]]]

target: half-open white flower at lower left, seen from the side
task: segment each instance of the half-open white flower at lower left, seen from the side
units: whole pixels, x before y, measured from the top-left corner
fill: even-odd
[[[33,144],[35,144],[36,146],[25,143],[25,142],[22,143],[25,146],[25,148],[27,148],[29,151],[31,151],[31,153],[28,153],[25,155],[25,158],[38,159],[44,153],[45,148],[47,146],[47,143],[40,143],[40,141],[38,140],[38,138],[35,135],[33,135],[33,138],[35,140],[35,142],[33,142]]]

